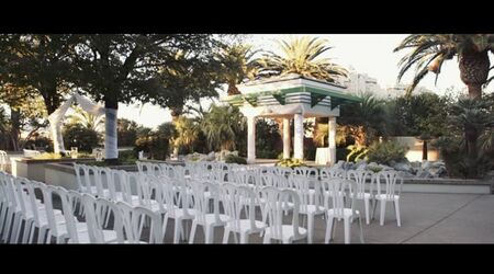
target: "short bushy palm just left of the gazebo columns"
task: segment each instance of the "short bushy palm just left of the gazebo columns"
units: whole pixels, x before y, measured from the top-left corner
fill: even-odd
[[[201,122],[210,149],[235,149],[235,139],[245,128],[245,118],[233,106],[212,105]]]

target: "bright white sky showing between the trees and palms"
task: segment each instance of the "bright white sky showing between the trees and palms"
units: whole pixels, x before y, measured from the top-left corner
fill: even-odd
[[[256,34],[249,35],[247,43],[252,44],[256,48],[276,52],[276,39],[287,39],[293,35]],[[324,37],[328,41],[329,46],[333,48],[325,53],[325,57],[332,58],[334,62],[346,68],[351,66],[360,73],[367,73],[369,77],[375,78],[381,88],[396,83],[398,73],[397,64],[406,53],[393,53],[393,49],[407,34],[311,34],[311,36]],[[492,56],[491,64],[494,64]],[[413,73],[414,69],[412,68],[402,79],[402,83],[409,83]],[[456,58],[445,62],[437,85],[435,85],[434,81],[435,75],[429,73],[422,80],[419,85],[439,94],[444,94],[444,91],[452,85],[456,89],[463,89],[465,87],[460,80],[460,71]],[[492,87],[494,85],[489,87],[489,90],[492,90]],[[126,106],[120,104],[119,117],[134,119],[138,124],[148,127],[156,127],[164,122],[171,121],[168,110],[148,104],[143,109],[136,105]]]

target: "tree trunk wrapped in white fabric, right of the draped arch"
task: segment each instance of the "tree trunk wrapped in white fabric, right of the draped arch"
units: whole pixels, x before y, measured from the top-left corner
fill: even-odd
[[[117,111],[119,101],[116,96],[104,98],[104,161],[109,164],[119,162],[117,146]]]

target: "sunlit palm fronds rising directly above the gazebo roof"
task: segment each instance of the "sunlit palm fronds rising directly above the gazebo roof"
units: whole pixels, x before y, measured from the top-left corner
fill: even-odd
[[[282,55],[267,53],[257,59],[260,67],[259,77],[284,76],[297,73],[303,77],[335,82],[338,77],[347,77],[348,71],[323,58],[322,55],[332,47],[327,39],[302,36],[290,41],[278,41]]]

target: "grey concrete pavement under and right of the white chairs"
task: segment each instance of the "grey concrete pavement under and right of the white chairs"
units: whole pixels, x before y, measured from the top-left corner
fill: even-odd
[[[402,193],[401,216],[402,227],[397,227],[389,204],[381,227],[377,208],[375,219],[370,225],[363,221],[366,243],[494,243],[494,195]],[[166,242],[172,241],[172,231],[171,221]],[[324,243],[325,231],[325,220],[317,217],[314,243]],[[217,228],[214,236],[215,243],[221,243],[223,229]],[[194,242],[203,242],[202,229],[198,229]],[[229,242],[234,242],[233,237]],[[252,236],[250,242],[261,243],[262,239]],[[334,242],[344,242],[343,222],[336,227]],[[360,242],[358,221],[351,226],[351,242]]]

